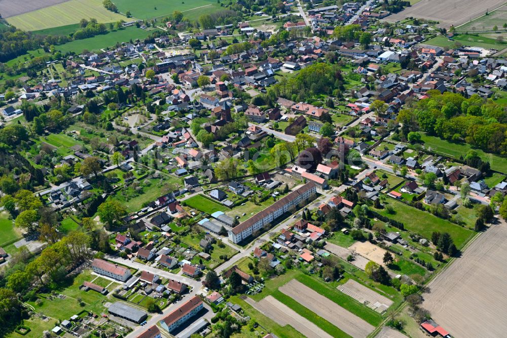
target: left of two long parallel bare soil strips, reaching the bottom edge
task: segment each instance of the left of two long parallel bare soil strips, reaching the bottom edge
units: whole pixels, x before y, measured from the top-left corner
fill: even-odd
[[[247,297],[245,301],[266,317],[274,320],[278,325],[291,325],[308,338],[333,338],[308,319],[283,305],[283,303],[273,298],[273,296],[267,296],[259,302]]]

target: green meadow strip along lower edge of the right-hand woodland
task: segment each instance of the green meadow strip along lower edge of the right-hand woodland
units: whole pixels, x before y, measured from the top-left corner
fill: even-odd
[[[464,156],[470,149],[472,149],[472,147],[466,143],[452,143],[424,133],[421,133],[421,136],[421,140],[424,142],[426,149],[431,147],[431,151],[438,154],[459,158],[460,155]],[[477,154],[483,160],[489,161],[493,170],[500,173],[507,173],[507,158],[485,153],[480,149],[474,150],[477,151]]]

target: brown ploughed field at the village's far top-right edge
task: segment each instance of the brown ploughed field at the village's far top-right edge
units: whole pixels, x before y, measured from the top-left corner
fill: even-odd
[[[456,4],[456,8],[454,8]],[[486,8],[493,10],[504,4],[503,0],[421,0],[405,10],[389,15],[389,22],[400,21],[408,17],[439,21],[440,27],[457,26],[483,15]]]

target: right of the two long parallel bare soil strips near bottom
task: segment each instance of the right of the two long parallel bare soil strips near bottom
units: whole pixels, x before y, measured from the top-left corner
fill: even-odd
[[[353,337],[366,337],[374,329],[363,319],[294,279],[278,290]]]

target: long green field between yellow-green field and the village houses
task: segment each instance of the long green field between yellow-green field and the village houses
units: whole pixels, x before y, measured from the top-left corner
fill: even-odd
[[[110,31],[105,35],[97,35],[93,38],[67,42],[66,44],[55,46],[55,48],[62,53],[81,53],[85,49],[89,51],[99,50],[102,48],[112,47],[116,45],[117,42],[122,43],[129,41],[130,39],[132,39],[132,41],[137,39],[142,40],[154,31],[155,30],[147,30],[131,26],[125,29]]]

